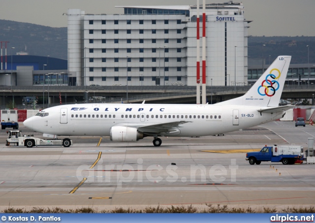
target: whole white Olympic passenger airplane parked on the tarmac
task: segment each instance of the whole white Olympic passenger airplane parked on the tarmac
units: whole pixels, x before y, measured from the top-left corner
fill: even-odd
[[[24,121],[44,135],[110,136],[137,142],[161,136],[207,136],[257,126],[284,116],[279,106],[291,56],[279,56],[243,96],[216,104],[69,104],[46,108]],[[56,137],[56,136],[55,136]]]

